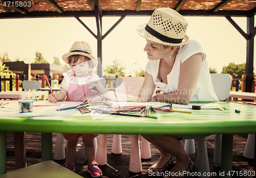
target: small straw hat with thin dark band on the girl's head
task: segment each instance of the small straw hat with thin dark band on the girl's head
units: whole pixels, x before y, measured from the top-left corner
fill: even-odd
[[[66,62],[68,62],[68,59],[71,55],[83,55],[87,56],[88,58],[95,59],[94,56],[92,56],[92,48],[90,44],[84,41],[76,41],[72,47],[69,49],[69,53],[62,56],[62,59]],[[94,61],[94,60],[93,60]],[[97,61],[97,59],[95,59]],[[98,62],[98,61],[97,61]],[[98,64],[98,63],[97,63]]]

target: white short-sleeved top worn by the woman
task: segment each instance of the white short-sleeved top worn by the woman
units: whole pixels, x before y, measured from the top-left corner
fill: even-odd
[[[181,64],[187,60],[189,57],[203,53],[204,58],[202,61],[202,67],[197,83],[197,87],[195,93],[190,101],[219,101],[218,97],[214,92],[214,87],[211,84],[210,73],[208,69],[208,63],[206,60],[206,54],[203,52],[202,46],[195,40],[189,40],[189,42],[185,45],[180,46],[178,50],[175,63],[172,71],[167,75],[167,84],[162,83],[158,78],[158,70],[159,70],[159,60],[151,61],[149,60],[146,65],[146,72],[151,74],[156,86],[161,88],[163,93],[171,93],[171,92],[189,92],[182,91],[182,89],[178,88],[179,78],[180,78],[180,66]]]

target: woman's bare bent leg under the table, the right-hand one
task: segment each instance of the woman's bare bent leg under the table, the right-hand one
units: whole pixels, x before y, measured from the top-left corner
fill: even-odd
[[[183,148],[180,140],[181,136],[171,135],[148,135],[161,149],[176,157],[176,164],[170,172],[186,171],[190,158]],[[178,138],[177,138],[178,137]]]

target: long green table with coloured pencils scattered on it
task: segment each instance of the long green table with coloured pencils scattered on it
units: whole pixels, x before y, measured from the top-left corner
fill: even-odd
[[[42,160],[51,160],[51,133],[84,134],[223,134],[221,171],[232,168],[233,134],[256,133],[255,106],[219,102],[226,109],[193,110],[192,113],[157,112],[159,119],[104,115],[92,119],[80,116],[41,116],[9,118],[0,116],[0,174],[6,171],[6,132],[40,132]],[[240,110],[241,113],[235,113]],[[0,110],[1,111],[1,110]],[[68,110],[67,113],[74,112]]]

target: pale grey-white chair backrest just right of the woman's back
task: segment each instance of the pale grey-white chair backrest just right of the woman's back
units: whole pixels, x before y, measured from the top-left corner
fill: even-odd
[[[232,84],[232,77],[226,73],[210,73],[211,83],[219,100],[226,100]]]

